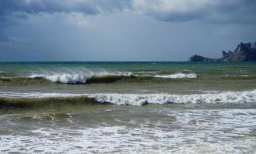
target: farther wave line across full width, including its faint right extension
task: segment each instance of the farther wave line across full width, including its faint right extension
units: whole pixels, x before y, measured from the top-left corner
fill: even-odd
[[[113,83],[123,82],[172,82],[176,80],[194,80],[199,78],[196,73],[174,73],[174,74],[136,74],[131,72],[104,72],[104,73],[58,73],[58,74],[34,74],[29,76],[5,77],[0,75],[0,82],[16,82],[17,84],[37,83],[45,84],[46,82],[63,83],[63,84],[92,84],[92,83]],[[205,78],[201,76],[201,79]],[[206,77],[207,78],[207,77]],[[220,75],[210,77],[222,80],[246,80],[256,79],[256,75]],[[209,77],[207,79],[210,79]]]

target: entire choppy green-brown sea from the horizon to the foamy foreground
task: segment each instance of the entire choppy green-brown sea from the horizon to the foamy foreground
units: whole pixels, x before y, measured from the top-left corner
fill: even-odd
[[[255,62],[0,62],[0,153],[255,151]]]

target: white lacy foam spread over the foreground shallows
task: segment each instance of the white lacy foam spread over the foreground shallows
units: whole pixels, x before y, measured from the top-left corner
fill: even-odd
[[[70,127],[58,126],[58,119],[54,118],[51,119],[52,126],[37,126],[34,122],[47,123],[40,121],[38,115],[31,121],[33,129],[2,135],[0,152],[253,153],[256,148],[255,109],[156,109],[150,112],[162,115],[156,121],[137,117],[138,111],[135,115],[130,111],[126,113],[132,121],[123,120],[122,125],[111,125],[112,120],[121,120],[120,117],[125,116],[120,113],[111,115],[116,117],[114,119],[104,119],[106,123],[99,123],[96,127],[77,123],[79,116],[68,116],[68,119],[73,119]],[[175,119],[170,120],[173,117]],[[10,118],[10,115],[4,116],[2,120],[16,122],[15,117]],[[15,124],[24,125],[22,122]]]

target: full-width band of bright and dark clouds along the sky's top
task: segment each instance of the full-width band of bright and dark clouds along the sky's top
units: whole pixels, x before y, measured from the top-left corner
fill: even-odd
[[[255,8],[254,0],[1,0],[0,25],[15,25],[43,12],[98,15],[125,11],[164,22],[254,23]]]

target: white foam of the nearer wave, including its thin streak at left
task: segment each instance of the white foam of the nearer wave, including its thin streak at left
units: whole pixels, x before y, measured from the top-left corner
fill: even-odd
[[[96,102],[109,102],[115,105],[144,105],[148,104],[169,104],[169,103],[256,103],[256,89],[244,92],[212,92],[204,94],[172,95],[166,93],[158,94],[118,94],[118,93],[97,93],[97,94],[72,94],[72,93],[41,93],[41,92],[0,92],[4,98],[49,98],[49,97],[73,97],[87,96]]]

